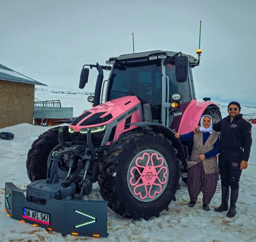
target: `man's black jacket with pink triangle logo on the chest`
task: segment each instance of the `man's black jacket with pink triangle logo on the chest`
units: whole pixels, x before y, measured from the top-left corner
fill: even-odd
[[[242,160],[248,161],[252,146],[252,125],[242,118],[243,114],[234,117],[231,122],[230,116],[221,119],[212,125],[216,132],[220,132],[220,149],[240,150],[244,149]]]

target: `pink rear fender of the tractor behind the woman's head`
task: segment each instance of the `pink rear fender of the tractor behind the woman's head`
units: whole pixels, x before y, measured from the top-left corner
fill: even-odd
[[[192,99],[183,112],[178,133],[186,134],[193,131],[194,127],[198,126],[203,112],[209,105],[217,106],[217,104],[213,102],[197,101],[196,99]]]

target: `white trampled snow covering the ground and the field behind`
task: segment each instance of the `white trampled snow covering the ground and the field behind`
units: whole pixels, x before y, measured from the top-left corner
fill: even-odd
[[[56,94],[44,91],[36,93],[35,99],[60,99],[62,107],[74,107],[74,117],[84,109],[89,109],[89,95]],[[227,115],[227,104],[219,103],[222,116]],[[241,113],[253,113],[255,108],[242,106]],[[188,207],[189,195],[187,186],[180,179],[181,190],[176,193],[177,200],[169,204],[169,211],[163,211],[159,218],[149,221],[132,221],[125,219],[108,208],[107,238],[93,238],[87,236],[62,236],[60,233],[48,233],[44,228],[33,227],[31,224],[7,217],[4,211],[4,185],[13,182],[19,188],[26,188],[30,183],[26,171],[27,152],[35,139],[51,127],[19,124],[0,129],[14,133],[13,140],[0,139],[0,242],[20,241],[115,241],[115,242],[242,242],[256,241],[256,124],[253,124],[253,145],[248,168],[243,170],[240,179],[240,194],[237,202],[237,214],[234,218],[227,218],[226,212],[215,212],[214,208],[221,202],[221,187],[218,182],[217,191],[210,203],[210,211],[202,209],[202,194],[199,195],[195,207]],[[99,189],[97,183],[93,189]],[[103,200],[99,192],[89,195],[88,199]]]

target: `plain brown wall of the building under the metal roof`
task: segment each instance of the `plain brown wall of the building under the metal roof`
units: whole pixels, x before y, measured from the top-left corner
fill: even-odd
[[[33,124],[35,85],[0,80],[0,129]]]

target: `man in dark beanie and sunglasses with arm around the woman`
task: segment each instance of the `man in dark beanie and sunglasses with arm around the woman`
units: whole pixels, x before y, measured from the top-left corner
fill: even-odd
[[[243,169],[247,169],[252,146],[252,125],[242,118],[241,106],[233,101],[228,105],[228,116],[213,125],[220,132],[219,170],[221,180],[221,205],[214,210],[227,211],[227,217],[236,214],[236,202],[239,194],[239,179]],[[200,126],[194,128],[194,133]],[[230,192],[230,207],[229,201]]]

